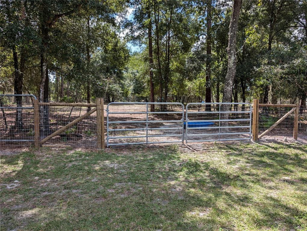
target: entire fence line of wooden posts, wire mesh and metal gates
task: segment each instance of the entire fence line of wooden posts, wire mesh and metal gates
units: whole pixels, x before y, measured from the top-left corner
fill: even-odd
[[[0,103],[1,146],[34,144],[35,147],[104,148],[105,111],[107,142],[111,141],[111,145],[170,143],[175,140],[178,142],[177,138],[184,134],[182,127],[185,127],[184,122],[187,121],[214,124],[204,127],[188,126],[188,135],[195,142],[231,140],[229,138],[233,135],[242,135],[243,137],[236,137],[239,140],[247,139],[251,133],[248,131],[250,125],[247,124],[250,117],[243,117],[243,113],[251,111],[247,106],[243,106],[247,103],[229,103],[230,110],[219,109],[216,106],[218,103],[212,103],[210,108],[206,103],[191,103],[189,110],[179,109],[175,106],[177,103],[166,103],[167,106],[150,102],[111,103],[112,110],[104,110],[102,98],[97,98],[96,103],[57,103],[38,102],[33,95],[14,94],[0,95]],[[155,106],[152,108],[150,105]],[[42,109],[47,112],[40,114]],[[188,116],[186,120],[184,113]],[[40,118],[41,115],[44,118]],[[260,104],[259,100],[255,99],[250,116],[253,141],[263,137],[275,139],[291,136],[294,140],[307,138],[305,106]],[[221,129],[228,130],[222,134],[224,137],[220,137]],[[210,139],[210,136],[219,138]],[[130,142],[129,139],[134,141]],[[117,142],[120,140],[124,142]]]

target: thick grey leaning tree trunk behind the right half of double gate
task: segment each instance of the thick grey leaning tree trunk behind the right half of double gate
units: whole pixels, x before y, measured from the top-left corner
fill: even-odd
[[[228,67],[227,74],[224,82],[224,90],[223,90],[223,103],[230,102],[232,98],[232,88],[233,82],[235,79],[236,72],[236,42],[237,42],[237,28],[239,21],[239,14],[241,9],[242,0],[234,0],[233,3],[233,11],[231,16],[231,21],[229,25],[229,34],[228,34],[228,47],[227,47],[227,55],[228,55]],[[225,104],[222,106],[223,111],[229,111],[230,105]],[[223,119],[228,118],[227,113],[223,113]],[[228,122],[223,123],[223,126],[227,126]]]

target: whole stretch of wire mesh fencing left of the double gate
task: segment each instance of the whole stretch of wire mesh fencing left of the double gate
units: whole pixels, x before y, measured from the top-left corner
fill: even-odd
[[[96,112],[88,114],[87,111],[91,110],[87,107],[88,104],[69,106],[64,103],[60,104],[63,106],[55,106],[52,103],[40,103],[40,106],[36,104],[37,112],[35,112],[35,103],[37,103],[35,96],[11,94],[0,95],[0,103],[1,150],[20,146],[29,147],[34,145],[36,140],[38,144],[44,145],[97,146]],[[35,113],[40,116],[35,117]],[[78,118],[82,119],[72,123]],[[52,135],[62,128],[61,132]],[[47,140],[42,142],[45,139]]]

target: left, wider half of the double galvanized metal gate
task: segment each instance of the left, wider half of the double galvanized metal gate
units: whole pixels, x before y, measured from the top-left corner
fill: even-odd
[[[111,102],[107,106],[107,147],[184,141],[182,103]]]

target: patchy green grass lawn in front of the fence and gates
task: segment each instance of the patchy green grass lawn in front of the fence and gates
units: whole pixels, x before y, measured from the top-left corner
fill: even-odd
[[[1,230],[307,230],[306,163],[273,143],[4,152]]]

